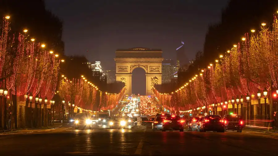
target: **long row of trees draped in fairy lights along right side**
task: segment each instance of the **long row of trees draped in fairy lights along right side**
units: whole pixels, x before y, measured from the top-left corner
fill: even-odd
[[[274,15],[272,30],[266,27],[266,23],[261,23],[261,30],[256,34],[255,32],[251,29],[251,35],[245,33],[242,41],[227,50],[226,55],[219,54],[215,64],[211,63],[207,68],[200,69],[199,74],[194,74],[175,92],[170,95],[159,93],[153,87],[155,95],[159,100],[171,96],[169,106],[177,110],[176,101],[199,108],[204,103],[222,103],[235,96],[254,94],[258,89],[266,88],[269,91],[271,86],[277,88],[277,16]],[[186,106],[183,107],[186,110],[184,108],[188,109]]]

